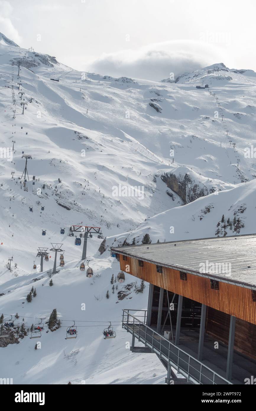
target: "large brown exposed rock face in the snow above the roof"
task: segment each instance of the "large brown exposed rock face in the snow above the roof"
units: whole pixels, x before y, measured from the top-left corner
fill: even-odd
[[[207,196],[215,191],[215,187],[208,189],[205,185],[199,185],[195,180],[192,180],[188,173],[185,175],[176,176],[173,173],[161,175],[167,187],[180,196],[184,204],[191,203],[199,197]]]

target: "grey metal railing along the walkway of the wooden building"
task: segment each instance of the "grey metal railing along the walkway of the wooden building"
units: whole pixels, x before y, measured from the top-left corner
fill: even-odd
[[[135,317],[130,312],[142,312],[143,315],[136,315]],[[141,317],[142,320],[138,317]],[[231,381],[217,374],[201,361],[147,326],[146,319],[146,310],[123,309],[122,328],[134,335],[138,341],[143,342],[145,346],[151,349],[152,353],[156,353],[160,360],[163,360],[167,366],[176,369],[187,381],[194,384],[233,385]]]

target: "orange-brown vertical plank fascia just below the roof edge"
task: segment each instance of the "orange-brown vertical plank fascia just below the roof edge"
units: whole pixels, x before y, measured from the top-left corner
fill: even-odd
[[[256,302],[252,301],[250,289],[219,282],[219,290],[212,290],[208,278],[187,274],[187,281],[183,281],[177,270],[163,267],[160,274],[155,264],[143,261],[143,267],[139,267],[138,260],[127,256],[127,261],[123,261],[122,254],[120,268],[158,287],[256,324]]]

